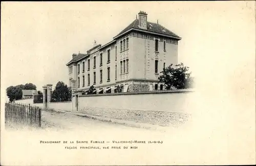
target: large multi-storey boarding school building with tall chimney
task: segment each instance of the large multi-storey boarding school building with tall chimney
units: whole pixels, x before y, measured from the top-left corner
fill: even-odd
[[[181,38],[160,24],[148,22],[140,11],[138,18],[105,45],[96,44],[86,54],[73,54],[67,63],[76,90],[94,85],[95,93],[162,90],[158,82],[165,66],[178,63]]]

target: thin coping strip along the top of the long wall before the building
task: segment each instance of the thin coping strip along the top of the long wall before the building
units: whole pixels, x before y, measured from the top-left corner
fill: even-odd
[[[79,95],[79,97],[113,96],[113,95],[129,95],[129,94],[180,93],[180,92],[194,92],[194,91],[195,91],[194,89],[153,90],[153,91],[142,91],[142,92],[82,94],[82,95]]]

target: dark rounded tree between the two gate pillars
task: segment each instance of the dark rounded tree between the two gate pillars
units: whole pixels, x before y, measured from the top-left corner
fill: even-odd
[[[70,98],[69,91],[70,90],[68,86],[64,82],[59,81],[57,82],[55,89],[53,90],[52,99],[57,102],[69,101],[69,98]]]

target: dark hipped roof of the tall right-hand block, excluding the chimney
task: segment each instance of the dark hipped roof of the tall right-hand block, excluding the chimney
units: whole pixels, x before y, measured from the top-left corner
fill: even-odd
[[[152,25],[151,28],[150,28],[150,25]],[[132,23],[130,23],[130,25],[127,26],[124,30],[122,30],[117,36],[125,33],[126,31],[128,31],[132,28],[142,30],[142,29],[139,28],[139,20],[138,19],[135,19]],[[163,32],[163,29],[165,29],[165,32]],[[174,36],[174,37],[180,38],[177,34],[175,34],[172,31],[166,29],[162,25],[160,25],[158,23],[154,23],[154,22],[148,22],[147,21],[147,30],[146,31],[160,33],[160,34],[163,34],[163,35],[169,35],[169,36]]]

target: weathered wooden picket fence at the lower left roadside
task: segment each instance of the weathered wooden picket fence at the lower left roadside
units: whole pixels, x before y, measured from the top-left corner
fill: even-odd
[[[5,103],[5,123],[41,127],[41,108],[30,104]]]

